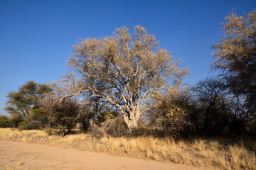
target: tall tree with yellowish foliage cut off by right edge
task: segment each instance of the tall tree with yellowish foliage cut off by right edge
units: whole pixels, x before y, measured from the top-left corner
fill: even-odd
[[[245,16],[230,13],[223,23],[224,37],[213,45],[213,68],[223,72],[230,91],[247,111],[256,113],[256,11]]]

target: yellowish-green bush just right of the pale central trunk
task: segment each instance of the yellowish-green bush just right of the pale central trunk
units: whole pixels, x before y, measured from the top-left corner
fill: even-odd
[[[180,137],[191,133],[191,122],[188,117],[193,111],[190,96],[184,89],[167,89],[152,96],[149,103],[149,120],[161,135]]]

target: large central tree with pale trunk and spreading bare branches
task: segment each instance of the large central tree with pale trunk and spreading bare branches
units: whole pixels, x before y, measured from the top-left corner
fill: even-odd
[[[150,94],[162,89],[166,80],[179,84],[187,72],[178,70],[179,63],[141,26],[135,26],[132,35],[122,27],[110,37],[79,40],[73,51],[68,58],[73,73],[63,79],[72,87],[70,95],[100,97],[119,109],[130,131],[137,128]]]

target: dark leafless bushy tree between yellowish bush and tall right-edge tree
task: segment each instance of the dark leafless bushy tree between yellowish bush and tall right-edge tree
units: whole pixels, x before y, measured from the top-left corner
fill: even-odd
[[[205,135],[221,135],[228,128],[230,103],[222,79],[209,77],[193,87],[197,108],[198,127]]]

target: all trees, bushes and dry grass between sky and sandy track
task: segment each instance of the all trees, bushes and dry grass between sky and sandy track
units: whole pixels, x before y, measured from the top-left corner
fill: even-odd
[[[217,169],[256,167],[256,11],[230,13],[212,70],[184,85],[180,69],[142,26],[79,40],[69,72],[9,92],[0,140]]]

